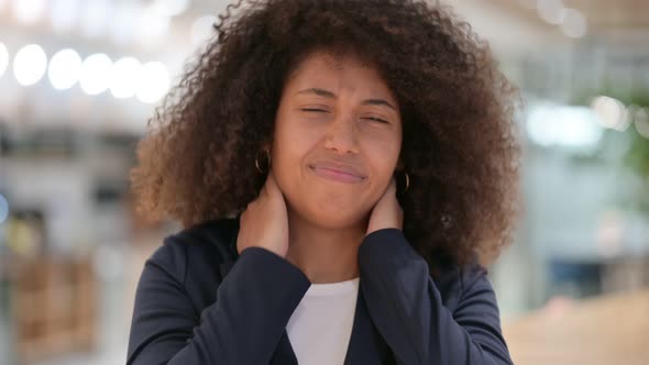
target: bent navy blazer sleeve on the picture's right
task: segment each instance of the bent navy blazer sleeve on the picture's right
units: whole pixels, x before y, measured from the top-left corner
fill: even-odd
[[[399,364],[512,364],[496,297],[481,266],[461,274],[453,312],[443,306],[428,263],[398,229],[370,233],[359,266],[370,314]]]

